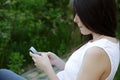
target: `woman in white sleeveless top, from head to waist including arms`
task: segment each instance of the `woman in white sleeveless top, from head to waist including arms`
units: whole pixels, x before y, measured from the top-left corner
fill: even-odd
[[[73,8],[74,22],[89,40],[66,64],[51,52],[30,56],[50,80],[113,80],[120,55],[115,0],[74,0]],[[51,64],[61,69],[57,75]]]

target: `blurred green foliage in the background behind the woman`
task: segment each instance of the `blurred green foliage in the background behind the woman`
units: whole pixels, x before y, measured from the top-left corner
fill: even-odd
[[[120,39],[120,0],[117,37]],[[66,58],[81,44],[69,0],[0,0],[0,68],[23,74],[33,67],[29,48]],[[120,68],[114,80],[120,79]]]

